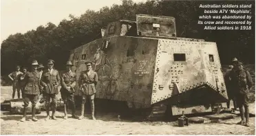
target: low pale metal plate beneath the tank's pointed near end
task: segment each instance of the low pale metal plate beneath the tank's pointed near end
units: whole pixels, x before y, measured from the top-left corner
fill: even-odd
[[[211,107],[205,107],[204,105],[193,106],[193,107],[171,107],[172,115],[192,114],[192,113],[206,113],[211,112]]]

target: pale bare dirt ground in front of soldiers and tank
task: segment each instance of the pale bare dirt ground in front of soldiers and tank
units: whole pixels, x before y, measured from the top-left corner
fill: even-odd
[[[1,102],[10,98],[11,93],[11,87],[1,87]],[[250,113],[255,113],[255,103],[250,104]],[[38,122],[33,122],[31,115],[28,115],[30,121],[19,122],[22,115],[1,111],[1,135],[255,135],[255,117],[250,118],[249,127],[237,125],[240,118],[178,127],[177,122],[118,120],[116,113],[98,113],[96,121],[89,114],[84,120],[63,120],[63,112],[57,112],[58,120],[48,121],[44,120],[45,115],[45,111],[37,114]]]

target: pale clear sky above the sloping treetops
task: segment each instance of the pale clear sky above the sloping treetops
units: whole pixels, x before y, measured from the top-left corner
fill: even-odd
[[[134,0],[140,2],[146,0]],[[1,0],[1,42],[10,34],[25,33],[48,22],[58,25],[69,14],[120,5],[121,0]]]

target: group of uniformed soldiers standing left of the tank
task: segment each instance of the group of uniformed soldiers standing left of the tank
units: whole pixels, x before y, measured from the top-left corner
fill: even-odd
[[[81,116],[78,117],[75,114],[74,92],[76,86],[76,73],[72,72],[72,62],[67,62],[66,71],[59,74],[58,70],[54,69],[54,60],[47,60],[47,69],[43,70],[43,65],[38,64],[36,60],[32,61],[31,72],[28,72],[28,68],[23,67],[20,72],[20,66],[17,66],[17,71],[9,74],[10,79],[13,81],[13,93],[12,98],[15,96],[15,92],[18,92],[18,98],[20,98],[20,91],[23,98],[23,118],[21,122],[26,120],[26,111],[29,103],[32,103],[32,120],[37,121],[35,116],[36,103],[39,101],[39,95],[43,95],[40,100],[41,103],[45,102],[45,110],[47,116],[45,120],[56,120],[55,111],[57,107],[58,86],[61,85],[61,98],[64,102],[64,119],[67,119],[67,103],[71,103],[72,118],[78,118],[79,120],[84,118],[85,102],[89,98],[91,102],[92,119],[94,117],[94,95],[96,94],[96,84],[98,82],[98,75],[92,70],[92,62],[85,62],[87,70],[81,72],[81,76],[78,79],[79,91],[82,92],[82,104],[81,104]],[[50,100],[52,102],[50,103]],[[50,107],[52,109],[52,116],[50,116]]]

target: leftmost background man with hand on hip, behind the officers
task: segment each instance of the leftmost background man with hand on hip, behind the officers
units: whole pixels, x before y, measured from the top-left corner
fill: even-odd
[[[14,98],[16,90],[17,90],[18,98],[20,98],[21,88],[19,86],[18,78],[17,78],[17,77],[19,77],[19,74],[22,74],[22,72],[19,71],[20,69],[21,69],[21,67],[17,66],[16,71],[14,71],[8,75],[8,77],[12,80],[12,98]]]

